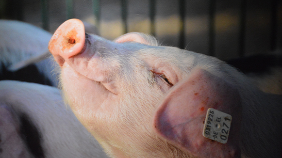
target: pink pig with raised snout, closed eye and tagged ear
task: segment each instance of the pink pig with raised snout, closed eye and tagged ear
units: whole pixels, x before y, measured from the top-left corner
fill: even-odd
[[[225,62],[138,32],[106,40],[79,19],[54,32],[49,50],[65,103],[112,158],[281,157],[281,95]],[[203,134],[215,110],[232,117],[218,124],[225,143]]]

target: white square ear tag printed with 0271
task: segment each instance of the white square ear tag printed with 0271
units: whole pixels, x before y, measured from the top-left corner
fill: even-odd
[[[203,129],[203,136],[225,144],[228,140],[232,116],[209,108]]]

